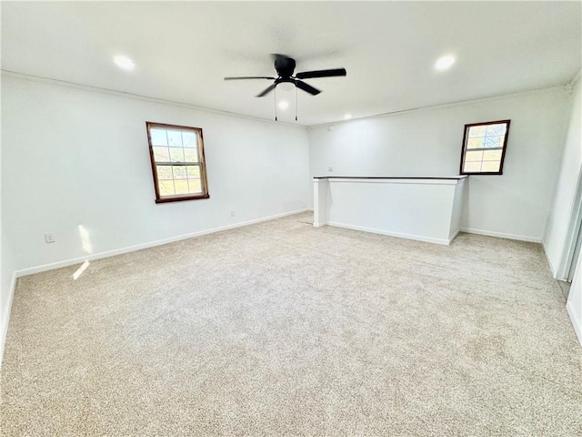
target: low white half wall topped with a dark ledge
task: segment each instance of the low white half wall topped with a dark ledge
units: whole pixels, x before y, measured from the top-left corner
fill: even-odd
[[[448,245],[460,228],[466,180],[317,178],[314,226]]]

